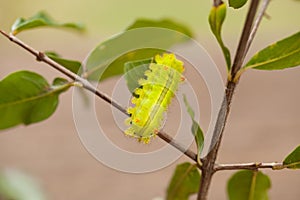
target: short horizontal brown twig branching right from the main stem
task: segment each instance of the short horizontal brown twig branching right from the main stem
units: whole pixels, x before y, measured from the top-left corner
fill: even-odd
[[[248,169],[248,170],[258,170],[258,169],[273,169],[280,170],[286,168],[283,163],[272,162],[272,163],[238,163],[238,164],[216,164],[215,171],[221,170],[240,170],[240,169]]]

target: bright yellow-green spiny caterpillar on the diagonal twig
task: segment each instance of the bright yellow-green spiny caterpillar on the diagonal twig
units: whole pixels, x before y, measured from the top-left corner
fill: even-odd
[[[130,127],[125,134],[143,143],[158,133],[164,113],[184,80],[183,62],[174,54],[156,55],[154,61],[145,71],[145,78],[139,80],[141,87],[134,91],[131,103],[135,106],[127,109],[130,117],[126,122]]]

